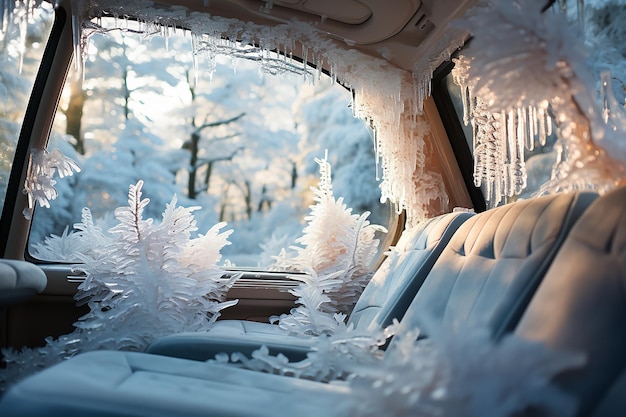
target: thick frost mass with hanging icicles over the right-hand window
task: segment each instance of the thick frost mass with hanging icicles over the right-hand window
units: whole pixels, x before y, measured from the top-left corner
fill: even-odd
[[[577,8],[580,24],[584,5]],[[535,195],[603,193],[624,183],[624,109],[606,72],[601,104],[596,100],[582,36],[564,14],[542,15],[529,1],[493,1],[456,24],[473,35],[452,76],[462,89],[464,122],[473,127],[475,185],[485,186],[489,205],[526,187],[524,149],[544,143],[553,120],[557,160]]]

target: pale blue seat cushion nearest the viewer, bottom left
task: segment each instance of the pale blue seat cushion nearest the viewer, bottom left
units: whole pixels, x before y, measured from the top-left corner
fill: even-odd
[[[347,417],[348,393],[342,384],[145,353],[98,351],[14,386],[0,399],[0,415]]]

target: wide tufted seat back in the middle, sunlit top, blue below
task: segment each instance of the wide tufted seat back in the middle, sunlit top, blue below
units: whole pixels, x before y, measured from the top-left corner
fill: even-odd
[[[573,223],[596,198],[572,193],[518,201],[467,220],[407,311],[403,326],[511,331]]]

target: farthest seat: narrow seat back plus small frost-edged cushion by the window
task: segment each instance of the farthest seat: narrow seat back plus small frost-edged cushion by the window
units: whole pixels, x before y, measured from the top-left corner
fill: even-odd
[[[435,260],[458,227],[473,213],[448,213],[407,229],[396,247],[365,287],[348,325],[384,328],[400,320]],[[244,320],[220,320],[207,332],[178,333],[157,339],[147,352],[179,358],[207,360],[218,353],[250,355],[261,346],[302,360],[315,338],[287,334],[276,325]]]

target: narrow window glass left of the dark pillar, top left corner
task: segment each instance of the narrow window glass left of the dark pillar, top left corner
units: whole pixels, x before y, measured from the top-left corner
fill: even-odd
[[[16,8],[27,7],[16,2]],[[8,14],[4,10],[0,25],[0,204],[4,205],[13,165],[15,147],[22,128],[28,98],[48,40],[54,11],[48,3],[37,7],[26,25],[20,17],[24,10]]]

